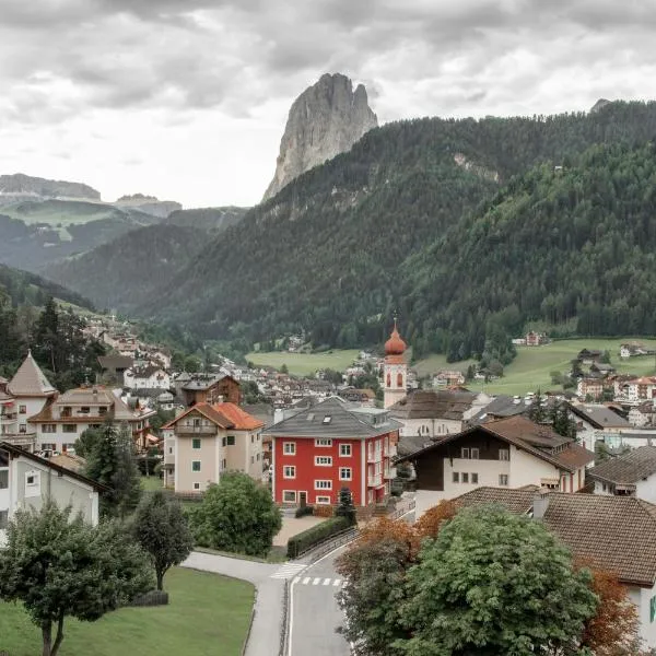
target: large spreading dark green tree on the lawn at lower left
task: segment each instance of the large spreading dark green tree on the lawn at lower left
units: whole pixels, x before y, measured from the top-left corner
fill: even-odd
[[[93,622],[152,587],[147,554],[125,528],[93,527],[46,501],[19,511],[0,550],[0,599],[20,601],[56,656],[67,617]]]

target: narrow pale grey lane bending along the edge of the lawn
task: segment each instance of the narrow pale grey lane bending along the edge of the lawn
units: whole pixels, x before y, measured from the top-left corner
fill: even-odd
[[[257,597],[246,656],[274,656],[278,654],[284,578],[293,576],[295,570],[288,574],[289,567],[285,565],[256,563],[198,551],[192,552],[183,566],[215,572],[253,583],[257,588]],[[220,618],[216,620],[220,621]]]

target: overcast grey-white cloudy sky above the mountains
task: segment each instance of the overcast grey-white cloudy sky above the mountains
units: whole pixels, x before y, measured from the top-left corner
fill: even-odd
[[[0,173],[254,204],[321,73],[363,82],[379,122],[646,98],[654,4],[0,0]]]

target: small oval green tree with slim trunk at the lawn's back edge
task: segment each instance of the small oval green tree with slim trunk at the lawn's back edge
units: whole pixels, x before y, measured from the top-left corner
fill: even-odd
[[[177,500],[167,500],[161,490],[149,494],[132,517],[132,534],[150,554],[161,590],[164,574],[173,565],[179,565],[194,549],[194,537],[183,506]]]

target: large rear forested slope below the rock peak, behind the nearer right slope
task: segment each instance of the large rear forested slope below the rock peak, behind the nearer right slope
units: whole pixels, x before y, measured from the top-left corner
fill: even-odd
[[[143,312],[203,337],[257,340],[305,328],[315,343],[345,347],[380,340],[398,307],[412,323],[409,335],[420,349],[442,350],[448,344],[433,338],[434,328],[469,333],[477,307],[467,295],[458,305],[456,295],[432,294],[432,284],[458,282],[438,276],[437,259],[458,247],[460,258],[448,261],[464,276],[478,271],[472,256],[480,254],[462,251],[453,241],[442,249],[431,244],[468,225],[464,222],[473,221],[468,216],[477,207],[482,203],[479,213],[484,212],[512,176],[536,164],[550,161],[549,169],[555,164],[567,172],[591,144],[645,143],[654,134],[656,103],[612,103],[594,114],[554,117],[387,125],[250,210],[162,285]],[[523,208],[518,212],[524,216]],[[594,224],[586,226],[582,234],[594,241]],[[465,233],[454,238],[464,239]],[[429,250],[418,256],[424,247]],[[515,274],[503,242],[495,253],[499,267]],[[406,262],[410,256],[419,259]],[[418,267],[424,277],[414,280]],[[532,276],[541,280],[543,272]],[[470,280],[484,296],[489,280],[473,274]],[[413,291],[414,283],[421,292]],[[566,293],[571,281],[559,279],[558,285],[565,286],[553,293]],[[524,302],[503,296],[485,307],[503,309],[508,303]],[[437,321],[443,312],[447,315]],[[529,313],[520,315],[517,323]],[[477,337],[477,349],[480,341]]]

